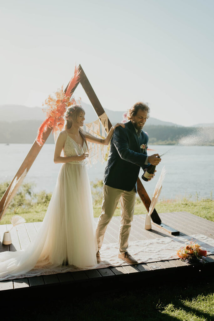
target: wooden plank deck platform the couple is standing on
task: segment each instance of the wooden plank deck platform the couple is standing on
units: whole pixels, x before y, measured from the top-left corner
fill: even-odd
[[[160,213],[163,223],[180,231],[180,235],[204,234],[214,239],[214,222],[205,220],[187,212]],[[95,221],[98,218],[94,219]],[[120,217],[113,217],[107,227],[104,243],[115,243],[118,239]],[[2,245],[0,242],[0,252],[20,250],[30,243],[30,240],[37,234],[41,222],[25,223],[17,227],[17,231],[11,231],[13,244],[10,246]],[[164,230],[152,225],[152,230],[144,230],[144,215],[134,215],[130,241],[156,239],[164,237],[173,237]],[[3,234],[10,228],[10,225],[0,225],[0,237],[3,239]],[[84,289],[85,291],[90,286],[90,291],[102,291],[102,289],[117,288],[124,282],[141,282],[143,280],[157,280],[167,275],[170,276],[184,275],[185,273],[211,273],[214,267],[214,255],[206,258],[206,263],[189,265],[179,259],[159,261],[153,263],[141,263],[137,265],[127,265],[119,267],[108,267],[96,270],[86,270],[78,272],[68,272],[51,274],[44,276],[36,276],[24,279],[14,279],[0,282],[0,291],[10,294],[18,294],[20,291],[25,291],[28,295],[32,291],[46,291],[47,289],[59,289],[62,287],[70,287]],[[201,276],[201,274],[200,274]],[[58,291],[58,290],[57,290]],[[3,293],[1,292],[1,293]]]

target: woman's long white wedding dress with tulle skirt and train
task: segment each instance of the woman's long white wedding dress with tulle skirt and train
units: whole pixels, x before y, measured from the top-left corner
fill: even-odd
[[[80,146],[67,135],[64,156],[76,155],[75,149],[81,154]],[[82,149],[87,151],[85,142]],[[1,280],[33,268],[97,264],[90,182],[83,163],[62,165],[36,239],[25,250],[0,253]]]

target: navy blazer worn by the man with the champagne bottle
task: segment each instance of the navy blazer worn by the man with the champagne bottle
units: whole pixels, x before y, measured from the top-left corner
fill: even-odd
[[[137,178],[140,167],[145,165],[147,148],[141,149],[141,144],[148,144],[148,135],[141,130],[138,138],[131,120],[118,126],[114,130],[110,143],[107,165],[104,171],[103,183],[107,186],[131,191],[134,186],[137,190]]]

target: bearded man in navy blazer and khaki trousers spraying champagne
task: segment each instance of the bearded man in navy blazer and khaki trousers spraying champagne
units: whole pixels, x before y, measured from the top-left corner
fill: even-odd
[[[111,221],[119,200],[121,221],[118,257],[127,263],[138,263],[127,251],[137,193],[137,178],[140,167],[146,169],[150,164],[158,165],[161,161],[157,157],[158,154],[147,156],[148,135],[142,128],[149,117],[149,112],[147,104],[137,102],[127,113],[129,121],[125,123],[125,128],[118,126],[114,130],[104,172],[102,210],[96,227],[98,263],[101,262],[99,250],[107,224]],[[150,175],[150,179],[153,177],[153,174]]]

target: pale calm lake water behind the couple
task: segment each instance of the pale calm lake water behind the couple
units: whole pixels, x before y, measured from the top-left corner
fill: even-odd
[[[11,181],[30,150],[30,144],[0,144],[0,182]],[[33,165],[31,166],[25,181],[34,182],[34,191],[46,190],[53,192],[56,178],[61,164],[54,164],[54,144],[45,144]],[[175,146],[150,145],[148,154],[162,154]],[[213,191],[213,169],[214,169],[214,147],[213,146],[176,146],[172,151],[162,157],[161,163],[156,167],[155,178],[150,182],[143,182],[150,198],[158,181],[162,167],[166,167],[166,177],[161,191],[162,199],[174,199],[182,196],[198,195],[210,197]],[[90,181],[103,178],[105,163],[97,163],[88,167]],[[140,177],[142,175],[140,172]],[[125,175],[125,174],[124,174]]]

